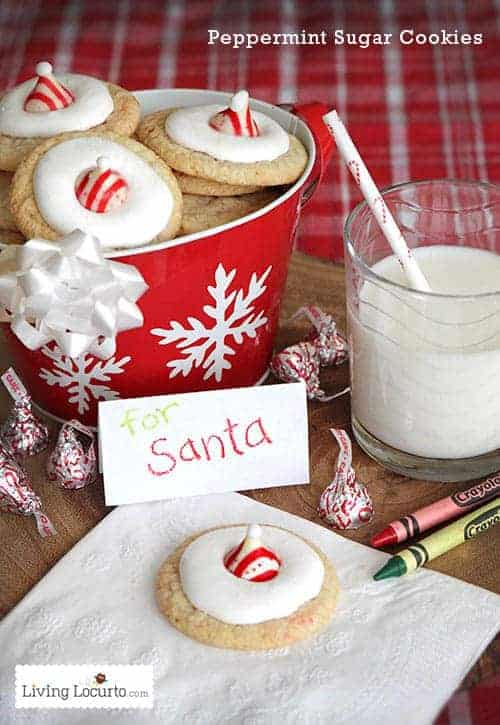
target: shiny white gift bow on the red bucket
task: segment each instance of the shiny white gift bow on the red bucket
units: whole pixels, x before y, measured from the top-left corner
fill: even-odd
[[[0,305],[29,350],[54,341],[64,355],[111,357],[116,335],[141,327],[135,304],[148,285],[130,264],[106,259],[96,237],[79,229],[58,242],[30,239],[15,272],[0,275]]]

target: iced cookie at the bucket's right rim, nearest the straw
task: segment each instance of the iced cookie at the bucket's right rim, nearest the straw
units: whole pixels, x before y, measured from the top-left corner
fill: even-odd
[[[252,111],[239,91],[229,107],[189,106],[146,116],[138,138],[169,166],[189,176],[239,186],[290,184],[307,151],[274,119]]]

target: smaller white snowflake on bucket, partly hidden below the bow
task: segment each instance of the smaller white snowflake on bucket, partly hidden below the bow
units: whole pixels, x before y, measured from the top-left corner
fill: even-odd
[[[120,397],[116,390],[103,383],[108,383],[113,375],[125,372],[124,366],[132,359],[126,356],[120,360],[115,357],[97,360],[92,355],[71,358],[64,355],[57,346],[53,349],[45,346],[42,352],[53,361],[53,365],[52,370],[42,368],[40,377],[47,385],[66,388],[68,401],[78,407],[80,415],[88,411],[92,399],[116,400]]]

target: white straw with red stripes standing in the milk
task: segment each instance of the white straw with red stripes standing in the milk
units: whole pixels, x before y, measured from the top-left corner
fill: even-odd
[[[337,111],[330,111],[323,116],[323,121],[328,126],[330,133],[335,139],[340,155],[344,159],[347,168],[353,175],[357,185],[361,189],[361,193],[365,197],[366,203],[373,212],[380,229],[385,238],[392,247],[392,250],[403,268],[404,273],[410,285],[420,292],[431,292],[429,283],[424,273],[415,261],[411,249],[406,244],[405,238],[401,234],[401,230],[377,189],[370,172],[355,145],[352,142],[349,133],[339,118]]]

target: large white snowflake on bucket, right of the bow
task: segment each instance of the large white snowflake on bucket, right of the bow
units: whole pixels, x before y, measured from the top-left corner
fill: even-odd
[[[187,377],[193,368],[202,367],[205,370],[203,380],[211,377],[217,382],[222,380],[224,370],[232,367],[229,358],[236,354],[228,338],[233,346],[241,345],[245,336],[255,338],[259,327],[267,323],[264,310],[257,312],[253,303],[266,290],[264,283],[271,269],[269,266],[260,277],[254,272],[246,292],[243,288],[230,291],[236,269],[226,272],[219,264],[215,270],[215,285],[207,287],[214,303],[203,307],[203,312],[214,320],[212,327],[196,317],[188,317],[187,325],[172,320],[169,329],[155,327],[151,330],[152,335],[162,338],[159,345],[177,343],[177,349],[183,354],[166,363],[170,378],[179,374]]]

